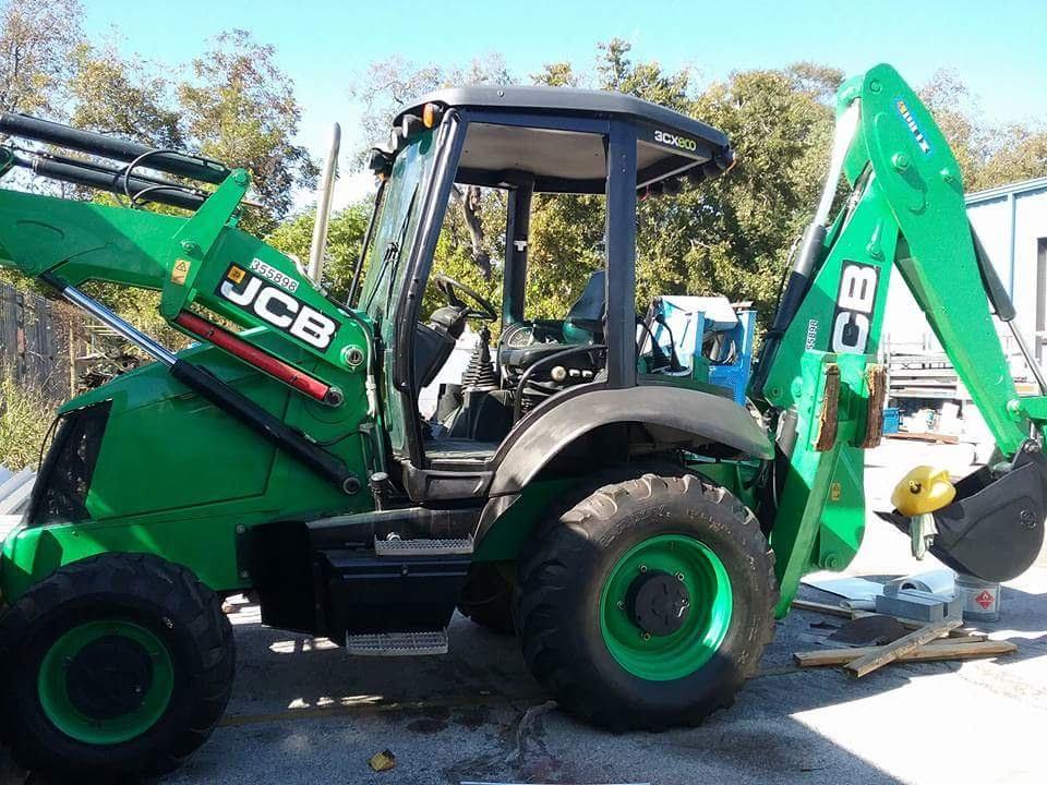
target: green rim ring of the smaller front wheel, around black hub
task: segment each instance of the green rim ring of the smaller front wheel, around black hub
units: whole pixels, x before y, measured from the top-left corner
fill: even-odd
[[[119,640],[149,664],[148,686],[134,697],[136,705],[116,716],[92,716],[70,692],[70,671],[85,649],[99,641]],[[143,660],[144,662],[144,660]],[[164,642],[131,621],[89,621],[62,635],[44,656],[37,679],[40,706],[63,734],[92,745],[116,745],[144,734],[164,716],[174,688],[174,665]]]

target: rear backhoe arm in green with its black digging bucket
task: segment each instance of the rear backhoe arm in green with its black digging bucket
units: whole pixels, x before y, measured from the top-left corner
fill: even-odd
[[[845,568],[861,543],[864,450],[880,440],[887,397],[877,352],[894,268],[1004,458],[936,512],[932,552],[961,571],[1006,580],[1035,558],[1047,516],[1047,399],[1019,397],[1011,378],[992,311],[1009,319],[1013,309],[978,255],[948,142],[889,65],[845,82],[837,102],[826,191],[750,387],[778,437],[766,522],[779,615],[803,575]],[[841,176],[850,192],[830,222]]]

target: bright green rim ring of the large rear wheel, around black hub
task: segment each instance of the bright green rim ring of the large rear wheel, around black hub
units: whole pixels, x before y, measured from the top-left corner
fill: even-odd
[[[626,609],[637,576],[660,570],[675,576],[690,596],[679,629],[645,635]],[[631,547],[611,569],[600,595],[600,629],[617,663],[634,676],[669,681],[688,676],[712,659],[731,626],[731,579],[720,557],[683,534],[661,534]]]

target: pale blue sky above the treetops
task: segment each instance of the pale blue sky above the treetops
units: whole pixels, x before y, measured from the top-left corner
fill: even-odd
[[[169,63],[200,53],[208,37],[232,27],[274,45],[304,109],[300,141],[317,156],[335,121],[353,145],[359,114],[347,88],[374,60],[399,52],[418,63],[452,64],[497,51],[524,76],[564,59],[587,68],[597,43],[614,36],[633,43],[636,59],[693,67],[699,83],[796,60],[849,74],[887,61],[916,85],[939,68],[954,69],[989,120],[1047,124],[1047,0],[86,0],[85,7],[89,34],[116,27],[125,51]]]

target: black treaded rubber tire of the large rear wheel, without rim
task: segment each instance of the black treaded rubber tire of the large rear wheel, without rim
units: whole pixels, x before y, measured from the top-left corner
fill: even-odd
[[[721,559],[733,615],[717,655],[673,680],[633,675],[600,628],[600,595],[618,558],[659,534],[687,534]],[[774,555],[755,516],[725,488],[676,472],[603,485],[544,521],[521,554],[514,619],[528,667],[562,708],[612,730],[697,725],[734,702],[774,636]]]

